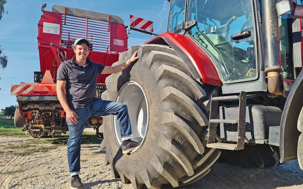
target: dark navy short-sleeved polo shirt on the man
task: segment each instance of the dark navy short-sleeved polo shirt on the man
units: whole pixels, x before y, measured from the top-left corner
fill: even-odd
[[[72,60],[64,61],[57,70],[57,80],[66,81],[65,91],[68,106],[74,109],[84,108],[96,98],[97,75],[104,65],[86,58],[84,67]]]

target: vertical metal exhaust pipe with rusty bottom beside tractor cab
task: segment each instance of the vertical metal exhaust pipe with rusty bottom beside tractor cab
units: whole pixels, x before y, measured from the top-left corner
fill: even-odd
[[[280,39],[276,1],[262,0],[262,23],[264,39],[264,72],[267,73],[268,91],[283,95],[279,87],[279,73],[282,71],[280,58]],[[277,53],[278,51],[278,53]]]

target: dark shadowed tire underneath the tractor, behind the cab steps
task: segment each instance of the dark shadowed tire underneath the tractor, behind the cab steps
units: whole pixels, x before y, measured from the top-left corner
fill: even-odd
[[[245,145],[243,150],[221,150],[219,162],[244,168],[265,168],[280,165],[278,146],[268,144]]]

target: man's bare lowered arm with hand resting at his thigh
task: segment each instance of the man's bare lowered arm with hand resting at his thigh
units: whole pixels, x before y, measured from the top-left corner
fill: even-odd
[[[61,106],[63,107],[65,113],[66,113],[66,119],[72,123],[72,124],[76,124],[78,122],[77,118],[77,114],[72,111],[72,109],[69,108],[67,100],[66,100],[66,96],[64,93],[65,90],[65,86],[66,86],[66,81],[64,80],[57,80],[57,96],[59,99],[59,102],[61,104]]]

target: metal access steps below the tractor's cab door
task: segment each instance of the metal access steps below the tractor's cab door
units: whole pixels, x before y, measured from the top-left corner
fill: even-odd
[[[255,95],[251,95],[253,97]],[[241,92],[240,95],[234,96],[218,96],[215,94],[211,95],[211,108],[209,112],[209,125],[208,125],[208,148],[219,148],[227,150],[240,150],[244,149],[245,142],[245,115],[246,115],[246,99],[247,93]],[[228,101],[228,100],[239,100],[239,116],[238,119],[217,119],[218,118],[218,102],[219,101]],[[222,141],[222,138],[219,138],[217,135],[217,126],[218,123],[231,123],[238,124],[238,135],[237,135],[237,144],[230,143],[218,143]]]

